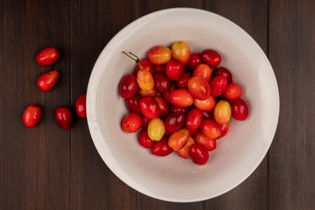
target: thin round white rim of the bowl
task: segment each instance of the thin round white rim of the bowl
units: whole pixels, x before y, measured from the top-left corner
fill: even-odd
[[[97,65],[98,63],[101,62],[101,59],[104,57],[105,55],[105,51],[109,48],[110,44],[114,41],[116,41],[116,39],[121,35],[123,34],[126,30],[128,30],[130,27],[132,27],[133,25],[137,24],[138,22],[141,22],[143,19],[146,19],[147,17],[151,17],[151,16],[157,16],[157,15],[163,15],[163,14],[167,14],[167,13],[170,13],[170,12],[183,12],[183,11],[187,11],[187,12],[199,12],[199,13],[206,13],[206,14],[209,14],[209,15],[212,15],[212,16],[216,16],[216,17],[219,17],[219,18],[222,18],[224,21],[226,22],[229,22],[229,24],[232,24],[234,26],[236,26],[237,28],[241,29],[243,32],[244,32],[244,35],[246,35],[248,38],[250,38],[256,45],[256,47],[258,47],[258,49],[260,50],[260,52],[264,55],[264,58],[265,60],[267,61],[267,64],[269,66],[269,70],[271,70],[272,72],[272,76],[273,76],[273,83],[275,84],[275,87],[276,87],[276,97],[277,97],[277,116],[276,116],[276,121],[275,121],[275,127],[274,127],[274,130],[272,132],[272,138],[271,138],[271,141],[269,143],[269,145],[267,146],[267,150],[266,152],[264,153],[264,155],[258,160],[256,161],[256,167],[254,167],[250,173],[248,173],[247,176],[243,177],[242,179],[240,179],[238,182],[236,182],[235,184],[233,184],[232,186],[230,186],[228,189],[226,190],[223,190],[222,192],[220,193],[216,193],[214,195],[210,195],[210,196],[204,196],[204,197],[201,197],[201,198],[198,198],[198,199],[186,199],[186,200],[180,200],[180,199],[172,199],[172,198],[167,198],[167,197],[163,197],[163,196],[156,196],[155,194],[152,194],[149,190],[146,190],[144,188],[137,188],[136,187],[136,184],[135,183],[129,183],[126,178],[124,176],[122,176],[120,174],[120,170],[117,169],[117,168],[111,168],[109,165],[109,162],[107,161],[107,159],[105,158],[104,154],[101,152],[101,148],[98,146],[98,135],[95,133],[95,131],[93,130],[93,119],[92,117],[88,114],[87,115],[87,121],[88,121],[88,125],[89,125],[89,130],[90,130],[90,134],[91,134],[91,137],[93,139],[93,143],[95,145],[95,148],[97,149],[99,155],[101,156],[102,160],[104,161],[104,163],[109,167],[109,169],[120,179],[122,180],[125,184],[127,184],[128,186],[130,186],[131,188],[137,190],[138,192],[140,193],[143,193],[147,196],[150,196],[150,197],[153,197],[153,198],[156,198],[156,199],[160,199],[160,200],[165,200],[165,201],[171,201],[171,202],[197,202],[197,201],[202,201],[202,200],[207,200],[207,199],[211,199],[211,198],[214,198],[214,197],[217,197],[219,195],[222,195],[230,190],[232,190],[233,188],[237,187],[238,185],[240,185],[242,182],[244,182],[256,169],[257,167],[261,164],[261,162],[263,161],[263,159],[265,158],[266,154],[268,153],[269,149],[270,149],[270,146],[273,142],[273,139],[274,139],[274,136],[275,136],[275,133],[276,133],[276,130],[277,130],[277,126],[278,126],[278,121],[279,121],[279,113],[280,113],[280,97],[279,97],[279,88],[278,88],[278,83],[277,83],[277,79],[276,79],[276,75],[273,71],[273,68],[271,66],[271,63],[268,59],[268,57],[266,56],[265,52],[263,51],[263,49],[260,47],[260,45],[256,42],[256,40],[251,36],[249,35],[243,28],[241,28],[239,25],[235,24],[234,22],[230,21],[229,19],[223,17],[223,16],[220,16],[218,14],[215,14],[213,12],[210,12],[210,11],[206,11],[206,10],[202,10],[202,9],[196,9],[196,8],[184,8],[184,7],[180,7],[180,8],[169,8],[169,9],[164,9],[164,10],[159,10],[159,11],[155,11],[155,12],[152,12],[152,13],[149,13],[145,16],[142,16],[134,21],[132,21],[131,23],[129,23],[128,25],[126,25],[124,28],[122,28],[107,44],[106,46],[104,47],[104,49],[102,50],[102,52],[100,53],[99,57],[97,58],[94,66],[93,66],[93,70],[92,70],[92,73],[91,73],[91,76],[90,76],[90,79],[89,79],[89,83],[88,83],[88,90],[87,90],[87,101],[86,101],[86,106],[87,106],[87,113],[90,113],[91,112],[91,106],[92,106],[92,103],[91,103],[91,91],[92,91],[92,83],[93,83],[93,78],[96,77],[96,72],[98,71],[97,69]]]

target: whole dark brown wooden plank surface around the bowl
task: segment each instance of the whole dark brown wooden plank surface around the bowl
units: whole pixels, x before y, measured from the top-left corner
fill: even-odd
[[[120,181],[104,164],[86,119],[62,130],[53,113],[74,108],[107,42],[148,13],[192,7],[222,15],[259,43],[274,68],[280,118],[270,151],[241,185],[214,199],[166,202]],[[313,0],[0,1],[0,209],[315,209],[315,3]],[[49,70],[35,61],[47,46],[61,49],[60,81],[36,87]],[[39,125],[22,122],[31,103]]]

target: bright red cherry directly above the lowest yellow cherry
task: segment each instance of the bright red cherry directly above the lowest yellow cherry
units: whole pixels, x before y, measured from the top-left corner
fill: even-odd
[[[150,96],[144,96],[140,99],[140,109],[144,116],[151,119],[160,114],[159,104]]]

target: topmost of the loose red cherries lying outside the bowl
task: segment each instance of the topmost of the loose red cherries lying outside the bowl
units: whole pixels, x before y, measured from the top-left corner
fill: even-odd
[[[37,63],[42,66],[51,65],[55,63],[58,59],[59,52],[54,47],[47,47],[45,49],[42,49],[36,57]]]

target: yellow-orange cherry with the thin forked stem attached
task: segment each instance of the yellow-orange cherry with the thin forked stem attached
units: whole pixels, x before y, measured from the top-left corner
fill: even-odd
[[[133,54],[132,52],[129,52],[131,55],[135,56],[137,59],[131,57],[130,55],[128,55],[126,52],[123,51],[123,53],[125,55],[127,55],[128,57],[130,57],[131,59],[133,59],[137,65],[139,65],[140,67],[140,71],[137,74],[137,83],[139,85],[139,87],[144,90],[144,91],[150,91],[153,89],[154,87],[154,80],[153,77],[151,75],[151,73],[149,73],[149,71],[146,71],[145,69],[142,68],[141,64],[140,64],[140,59],[138,56],[136,56],[135,54]]]

